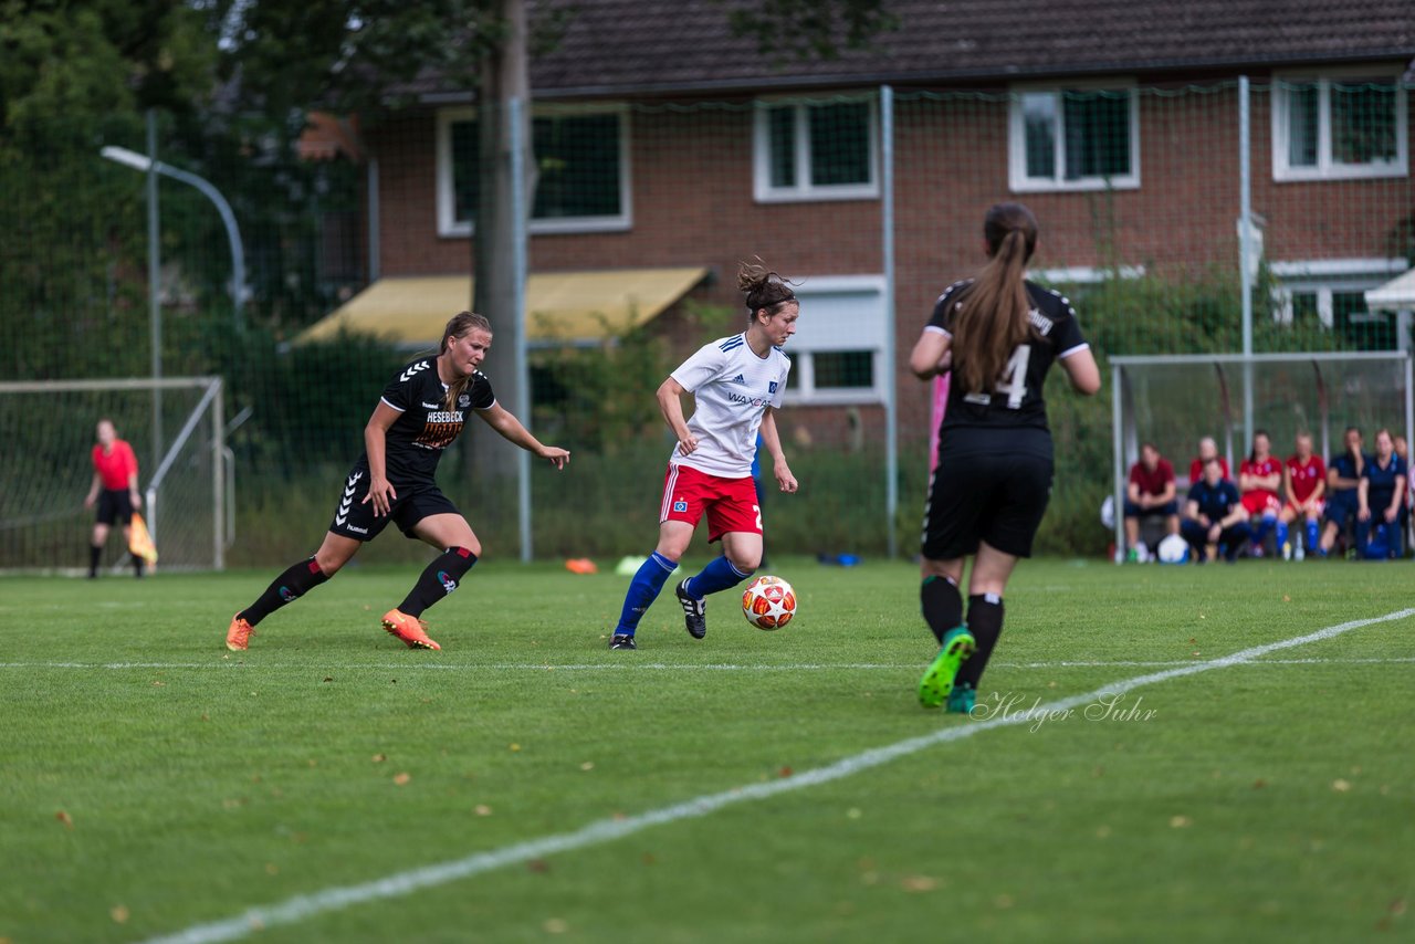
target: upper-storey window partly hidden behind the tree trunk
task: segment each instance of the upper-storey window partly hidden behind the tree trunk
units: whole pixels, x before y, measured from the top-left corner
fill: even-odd
[[[628,120],[623,109],[558,110],[531,120],[536,161],[531,232],[628,229]],[[468,236],[477,214],[477,115],[437,116],[437,232]]]

